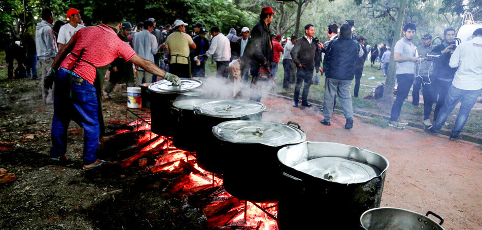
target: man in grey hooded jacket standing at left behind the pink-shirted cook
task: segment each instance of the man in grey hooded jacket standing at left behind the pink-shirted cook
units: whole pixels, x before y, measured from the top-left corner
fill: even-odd
[[[42,100],[45,104],[53,104],[53,87],[45,88],[44,81],[47,72],[49,71],[55,56],[58,53],[56,38],[52,30],[52,23],[54,21],[52,10],[45,8],[42,10],[42,21],[37,23],[35,31],[35,45],[37,48],[37,57],[40,61],[41,72],[41,88]]]

